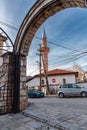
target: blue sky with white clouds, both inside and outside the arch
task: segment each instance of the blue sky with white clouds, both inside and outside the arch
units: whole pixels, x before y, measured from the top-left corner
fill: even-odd
[[[0,27],[7,32],[13,43],[25,15],[35,2],[0,0]],[[71,70],[74,64],[79,64],[87,71],[87,9],[67,8],[48,18],[37,30],[27,57],[27,75],[39,73],[37,53],[43,28],[50,48],[49,70]]]

